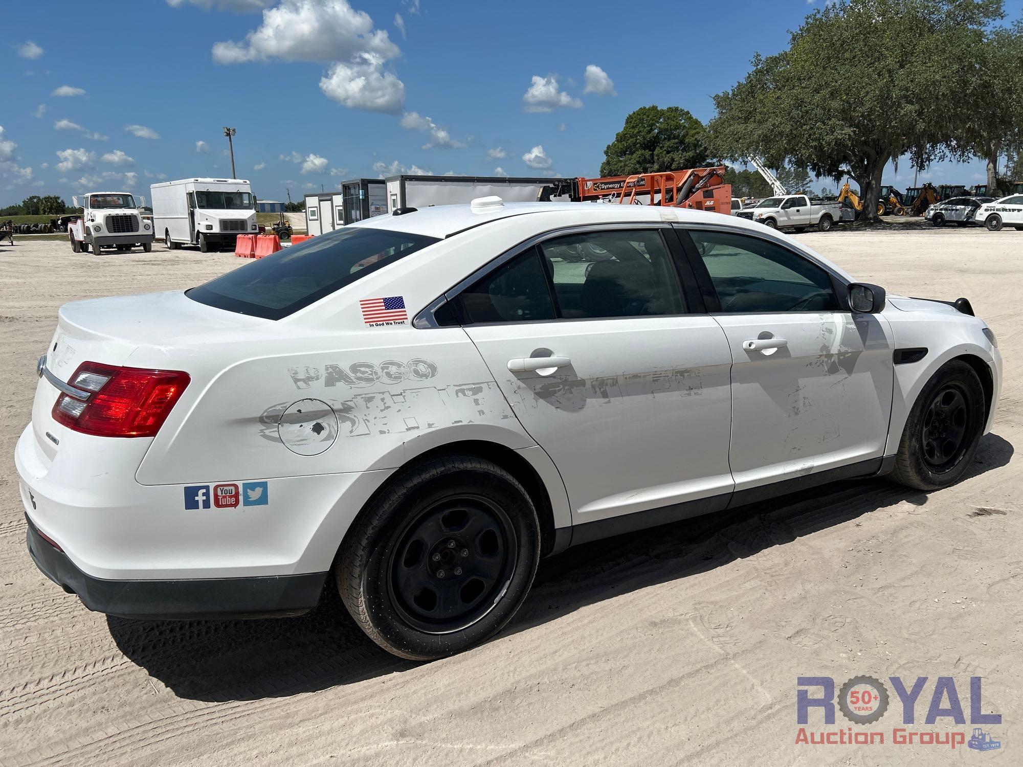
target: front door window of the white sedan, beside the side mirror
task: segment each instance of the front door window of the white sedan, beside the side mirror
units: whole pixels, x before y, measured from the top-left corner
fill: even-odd
[[[769,240],[690,231],[722,312],[840,311],[827,271]]]

